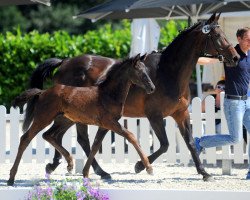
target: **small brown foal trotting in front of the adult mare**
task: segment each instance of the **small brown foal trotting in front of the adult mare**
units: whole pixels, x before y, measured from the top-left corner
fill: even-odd
[[[133,144],[147,172],[152,174],[153,169],[148,157],[141,150],[136,137],[118,122],[124,112],[124,103],[132,84],[143,88],[148,94],[155,90],[145,65],[140,61],[140,54],[135,58],[114,64],[107,72],[105,79],[101,77],[96,86],[72,87],[56,84],[47,90],[29,89],[16,97],[13,102],[14,106],[23,106],[32,99],[30,107],[33,109],[26,110],[25,113],[24,121],[31,126],[21,137],[17,156],[10,170],[8,185],[14,184],[19,162],[30,141],[58,114],[63,114],[73,122],[97,125],[100,130],[108,129],[122,135]],[[68,163],[72,161],[67,150],[58,145],[50,134],[43,134],[43,138],[53,145]],[[93,145],[93,150],[95,149],[98,150],[99,147],[95,148]],[[72,170],[71,167],[72,163],[68,166],[69,171]],[[83,171],[85,177],[88,177],[88,172],[88,170]]]

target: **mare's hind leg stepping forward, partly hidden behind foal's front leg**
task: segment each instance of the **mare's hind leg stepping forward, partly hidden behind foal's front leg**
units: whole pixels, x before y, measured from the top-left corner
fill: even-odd
[[[77,142],[81,145],[81,147],[84,150],[84,152],[87,155],[87,157],[89,157],[89,154],[90,154],[90,143],[89,143],[89,136],[88,136],[88,127],[87,127],[87,125],[84,125],[84,124],[81,124],[81,123],[77,123],[76,124],[76,130],[77,130]],[[98,129],[98,131],[99,131],[99,129]],[[106,130],[106,133],[107,133],[107,131],[108,130]],[[100,134],[105,136],[106,133],[105,133],[105,131],[103,129],[102,133],[100,133]],[[104,136],[103,136],[103,138],[104,138]],[[93,167],[95,173],[97,175],[101,176],[102,179],[110,179],[111,178],[110,174],[108,174],[107,172],[105,172],[100,167],[100,165],[97,163],[97,161],[96,161],[95,158],[93,159],[92,167]]]

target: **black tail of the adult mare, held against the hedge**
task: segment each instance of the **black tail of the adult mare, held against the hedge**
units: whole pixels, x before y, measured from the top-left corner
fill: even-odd
[[[43,89],[43,82],[52,76],[53,71],[62,64],[59,58],[49,58],[39,64],[30,77],[30,88]]]

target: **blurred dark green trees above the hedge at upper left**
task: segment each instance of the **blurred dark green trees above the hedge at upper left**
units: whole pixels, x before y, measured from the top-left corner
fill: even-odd
[[[22,5],[0,7],[0,32],[11,31],[19,26],[23,32],[37,29],[41,33],[65,30],[70,34],[82,34],[96,29],[100,22],[73,19],[72,16],[105,0],[52,0],[52,6]]]

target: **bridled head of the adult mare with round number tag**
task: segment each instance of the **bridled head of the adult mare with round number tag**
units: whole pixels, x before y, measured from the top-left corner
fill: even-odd
[[[213,14],[204,24],[201,24],[201,31],[206,36],[201,56],[215,57],[230,66],[235,66],[239,55],[220,28],[219,18],[220,14],[217,16]]]

